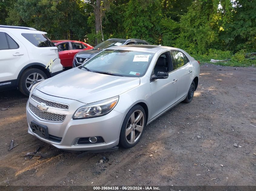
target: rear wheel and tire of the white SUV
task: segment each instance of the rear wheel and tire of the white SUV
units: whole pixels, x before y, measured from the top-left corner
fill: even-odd
[[[34,76],[35,78],[33,78]],[[32,86],[44,79],[47,79],[45,72],[37,68],[28,68],[22,73],[20,77],[18,84],[19,91],[22,94],[29,96],[29,90],[32,88]]]

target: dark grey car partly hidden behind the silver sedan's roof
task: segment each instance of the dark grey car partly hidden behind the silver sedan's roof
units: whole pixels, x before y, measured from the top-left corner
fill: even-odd
[[[73,59],[73,67],[80,66],[85,60],[90,59],[95,54],[99,53],[101,50],[104,50],[106,48],[112,47],[112,46],[120,46],[120,45],[134,45],[134,44],[145,44],[149,45],[149,43],[145,40],[140,39],[118,39],[118,38],[111,38],[108,40],[105,40],[102,43],[99,43],[97,46],[95,46],[91,50],[85,50],[81,51],[77,54],[75,54]]]

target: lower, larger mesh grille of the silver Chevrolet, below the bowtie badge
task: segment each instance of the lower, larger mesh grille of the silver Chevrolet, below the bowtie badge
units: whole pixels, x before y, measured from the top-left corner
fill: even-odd
[[[57,113],[50,113],[47,111],[41,111],[31,103],[29,103],[29,109],[41,119],[45,119],[47,121],[56,121],[56,122],[63,122],[67,115],[57,114]]]

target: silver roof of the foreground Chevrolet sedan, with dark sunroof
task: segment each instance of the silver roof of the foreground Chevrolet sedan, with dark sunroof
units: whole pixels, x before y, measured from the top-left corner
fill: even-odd
[[[149,52],[149,53],[156,53],[159,50],[181,50],[178,48],[173,48],[169,46],[156,46],[156,45],[122,45],[122,46],[112,46],[108,49],[115,49],[115,50],[137,50],[140,52]]]

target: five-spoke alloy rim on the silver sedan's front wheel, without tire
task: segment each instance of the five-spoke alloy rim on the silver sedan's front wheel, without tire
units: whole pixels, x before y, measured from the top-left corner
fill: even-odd
[[[133,112],[128,120],[125,130],[126,141],[134,144],[141,136],[144,128],[144,114],[141,110]]]

